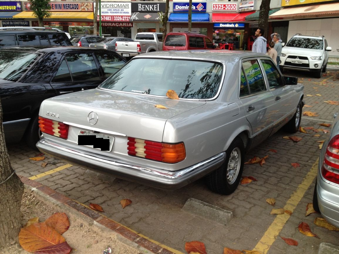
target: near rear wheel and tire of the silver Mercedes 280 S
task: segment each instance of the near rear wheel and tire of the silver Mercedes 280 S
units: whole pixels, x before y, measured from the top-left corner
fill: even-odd
[[[206,176],[208,188],[223,195],[233,193],[241,179],[244,168],[244,153],[244,143],[239,137],[236,137],[226,151],[225,162]]]

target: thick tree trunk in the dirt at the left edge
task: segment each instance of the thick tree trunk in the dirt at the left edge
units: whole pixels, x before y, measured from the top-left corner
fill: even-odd
[[[20,206],[23,193],[23,183],[14,173],[9,162],[3,133],[2,116],[3,112],[0,101],[0,247],[6,246],[13,241],[18,242],[21,228]],[[12,175],[12,173],[14,174]]]

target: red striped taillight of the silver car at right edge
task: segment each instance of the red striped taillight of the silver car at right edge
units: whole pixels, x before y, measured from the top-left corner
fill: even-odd
[[[339,184],[339,135],[328,143],[321,174],[326,180]]]

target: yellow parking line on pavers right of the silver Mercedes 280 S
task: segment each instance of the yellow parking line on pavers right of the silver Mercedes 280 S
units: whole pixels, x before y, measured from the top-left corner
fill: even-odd
[[[302,183],[299,184],[297,190],[291,195],[290,199],[287,200],[286,205],[284,206],[285,211],[290,210],[293,212],[297,207],[306,190],[310,187],[314,178],[317,176],[318,162],[319,158],[313,164],[311,170],[307,173]],[[259,240],[256,247],[254,247],[254,250],[259,251],[262,254],[266,254],[290,217],[291,216],[286,213],[277,215],[263,237]]]

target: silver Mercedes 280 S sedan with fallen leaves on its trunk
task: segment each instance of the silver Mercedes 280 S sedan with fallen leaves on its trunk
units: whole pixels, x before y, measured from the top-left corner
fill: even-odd
[[[159,51],[98,88],[43,101],[40,151],[163,189],[203,176],[230,194],[246,150],[281,127],[296,132],[303,86],[252,52]]]

